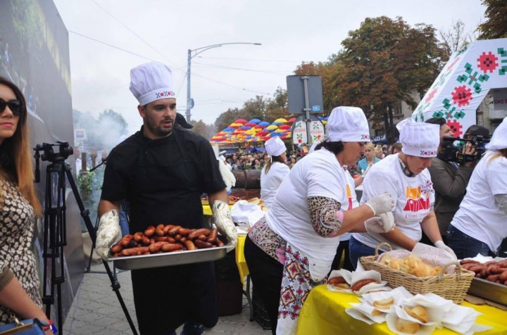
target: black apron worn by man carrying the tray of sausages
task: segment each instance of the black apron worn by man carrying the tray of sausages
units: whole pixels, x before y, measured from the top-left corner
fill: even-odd
[[[130,232],[149,226],[204,226],[198,158],[182,150],[179,130],[171,137],[143,141],[131,201]],[[170,156],[176,146],[180,158]],[[174,148],[174,147],[173,147]],[[165,153],[165,154],[164,154]],[[193,320],[205,327],[218,322],[212,262],[132,270],[132,289],[142,335],[170,334]]]

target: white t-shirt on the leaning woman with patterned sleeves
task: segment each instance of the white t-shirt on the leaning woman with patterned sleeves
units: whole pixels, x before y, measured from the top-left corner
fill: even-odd
[[[323,279],[330,271],[339,239],[318,235],[311,225],[308,197],[323,196],[349,208],[347,177],[334,153],[321,148],[292,167],[275,195],[266,222],[275,233],[306,255],[313,280]]]

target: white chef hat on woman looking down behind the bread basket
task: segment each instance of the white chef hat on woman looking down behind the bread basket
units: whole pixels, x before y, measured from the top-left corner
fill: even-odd
[[[401,152],[410,156],[437,157],[440,145],[440,126],[431,123],[414,122],[405,119],[396,125],[400,132]]]

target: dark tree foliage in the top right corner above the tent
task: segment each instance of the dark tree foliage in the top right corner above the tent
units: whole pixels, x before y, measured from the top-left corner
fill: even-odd
[[[477,27],[478,39],[501,39],[507,37],[507,0],[482,0],[486,6],[486,22]]]

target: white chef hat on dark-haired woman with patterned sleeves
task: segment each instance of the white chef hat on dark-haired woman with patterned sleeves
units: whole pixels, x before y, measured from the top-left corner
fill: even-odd
[[[363,110],[346,106],[334,108],[327,120],[327,138],[332,142],[370,141],[370,127]]]

